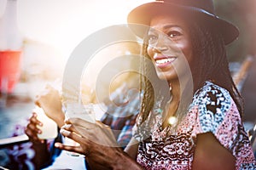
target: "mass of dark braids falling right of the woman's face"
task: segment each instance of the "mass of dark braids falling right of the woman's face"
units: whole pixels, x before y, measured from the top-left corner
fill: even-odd
[[[195,24],[190,30],[190,35],[195,60],[199,65],[192,71],[194,91],[201,88],[207,80],[212,80],[230,92],[242,116],[243,99],[230,74],[223,38],[218,32],[209,30],[206,26]]]

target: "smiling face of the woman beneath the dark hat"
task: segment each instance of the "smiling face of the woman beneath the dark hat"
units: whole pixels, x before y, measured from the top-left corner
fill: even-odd
[[[189,27],[185,21],[170,14],[157,15],[152,18],[150,27],[147,52],[158,77],[172,82],[186,75],[193,57]]]

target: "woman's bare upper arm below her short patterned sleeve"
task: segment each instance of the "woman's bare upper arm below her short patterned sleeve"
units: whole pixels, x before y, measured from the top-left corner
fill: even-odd
[[[234,170],[235,163],[236,158],[218,142],[212,133],[197,135],[193,169]]]

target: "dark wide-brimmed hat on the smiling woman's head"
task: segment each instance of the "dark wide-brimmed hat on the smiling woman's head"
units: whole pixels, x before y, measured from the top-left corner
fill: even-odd
[[[227,20],[220,19],[214,11],[212,0],[164,0],[155,1],[152,3],[144,3],[131,10],[128,14],[128,24],[139,24],[149,26],[150,20],[157,14],[194,14],[200,17],[200,20],[207,24],[210,29],[220,33],[224,38],[225,44],[229,44],[236,40],[239,35],[239,30],[236,26]],[[189,16],[189,15],[187,15]],[[191,15],[192,16],[192,15]],[[188,18],[188,20],[190,20]],[[133,27],[134,28],[134,27]],[[143,37],[143,31],[135,31],[137,36]]]

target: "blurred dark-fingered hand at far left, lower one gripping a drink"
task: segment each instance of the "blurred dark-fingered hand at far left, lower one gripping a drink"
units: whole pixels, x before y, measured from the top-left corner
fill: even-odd
[[[44,139],[38,139],[38,134],[42,133],[38,126],[43,126],[43,124],[42,122],[38,121],[37,116],[37,113],[32,113],[32,116],[29,119],[29,123],[26,125],[25,133],[33,143],[43,144]]]

